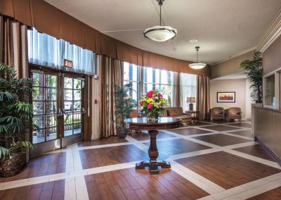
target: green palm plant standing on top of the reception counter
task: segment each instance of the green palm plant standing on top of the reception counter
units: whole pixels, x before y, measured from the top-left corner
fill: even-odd
[[[255,103],[262,103],[263,101],[263,58],[261,52],[255,51],[253,60],[245,60],[240,64],[240,68],[247,70],[246,75],[252,83],[250,88],[251,99]]]

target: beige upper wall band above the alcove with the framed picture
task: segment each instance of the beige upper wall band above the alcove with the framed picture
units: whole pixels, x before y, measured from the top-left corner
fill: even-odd
[[[253,57],[254,51],[250,51],[247,54],[237,56],[235,58],[230,58],[228,61],[219,63],[217,65],[211,66],[211,79],[217,77],[223,77],[226,75],[232,75],[236,73],[241,73],[243,70],[240,67],[240,63],[244,60],[251,60]]]

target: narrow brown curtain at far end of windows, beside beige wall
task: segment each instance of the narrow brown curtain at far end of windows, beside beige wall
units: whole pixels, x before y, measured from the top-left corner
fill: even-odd
[[[209,120],[210,108],[210,79],[207,75],[197,76],[197,110],[200,120]]]

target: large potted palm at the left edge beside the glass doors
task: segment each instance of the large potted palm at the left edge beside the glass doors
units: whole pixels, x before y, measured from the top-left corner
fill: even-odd
[[[32,104],[23,101],[32,93],[34,81],[18,79],[15,70],[0,63],[0,175],[10,177],[20,173],[23,156],[31,142],[22,141],[32,125]]]

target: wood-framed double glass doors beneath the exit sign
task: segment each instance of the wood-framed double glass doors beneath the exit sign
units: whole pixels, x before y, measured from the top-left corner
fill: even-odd
[[[39,127],[32,132],[32,142],[51,151],[81,141],[84,79],[36,70],[32,77],[33,123]]]

